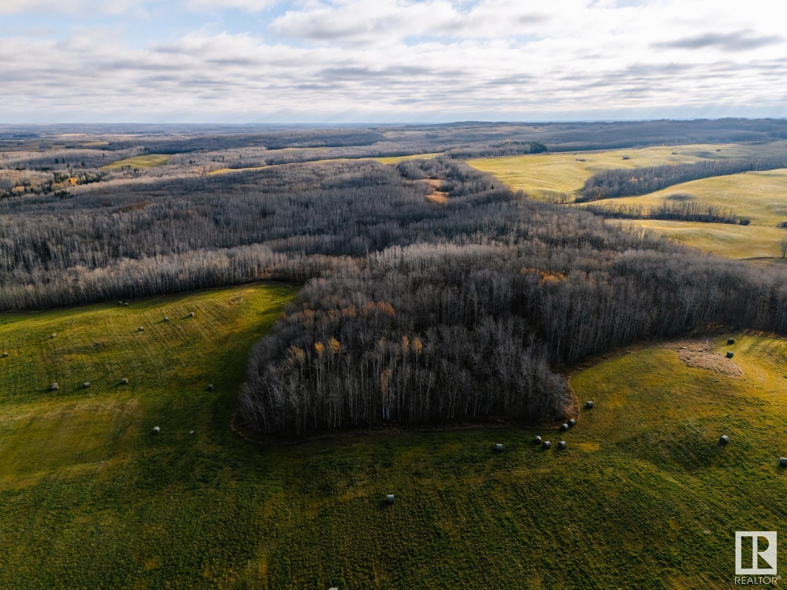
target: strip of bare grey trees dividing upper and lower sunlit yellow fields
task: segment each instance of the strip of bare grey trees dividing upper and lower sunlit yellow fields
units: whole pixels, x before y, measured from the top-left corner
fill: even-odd
[[[578,203],[648,194],[674,184],[711,176],[787,168],[787,157],[730,158],[695,164],[665,164],[645,168],[618,168],[597,172],[585,181]]]

